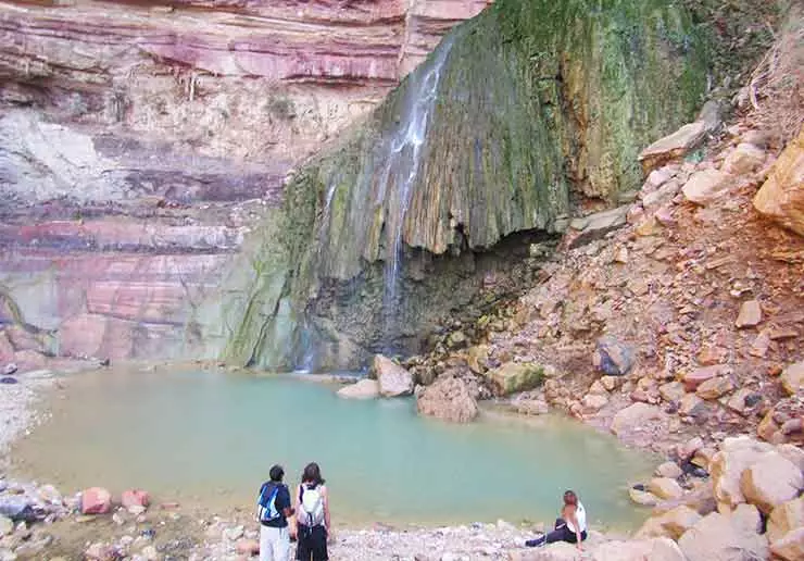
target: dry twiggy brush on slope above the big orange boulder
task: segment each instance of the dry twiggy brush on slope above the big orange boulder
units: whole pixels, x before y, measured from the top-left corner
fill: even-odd
[[[778,132],[783,144],[799,135],[804,125],[804,10],[791,10],[741,94],[755,126]]]

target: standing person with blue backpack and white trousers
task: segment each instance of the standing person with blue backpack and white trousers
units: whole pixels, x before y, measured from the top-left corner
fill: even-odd
[[[260,521],[260,561],[288,561],[290,558],[290,534],[288,516],[293,514],[290,507],[290,491],[282,483],[285,470],[274,465],[268,472],[271,481],[260,487],[256,499],[256,520]]]

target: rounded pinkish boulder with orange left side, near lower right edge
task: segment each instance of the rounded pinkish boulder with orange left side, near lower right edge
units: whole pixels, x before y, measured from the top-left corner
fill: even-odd
[[[765,453],[740,476],[743,496],[765,514],[797,497],[802,488],[804,477],[799,466],[777,451]]]

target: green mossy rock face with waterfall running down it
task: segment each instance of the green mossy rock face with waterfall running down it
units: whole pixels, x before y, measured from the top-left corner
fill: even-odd
[[[638,187],[639,151],[701,103],[704,61],[664,0],[498,1],[288,185],[244,258],[228,358],[282,367],[312,345],[332,367],[415,349],[510,269],[489,248]]]

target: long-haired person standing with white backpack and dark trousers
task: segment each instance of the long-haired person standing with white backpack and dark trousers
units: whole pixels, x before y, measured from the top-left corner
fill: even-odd
[[[296,493],[296,559],[298,561],[327,561],[329,495],[321,476],[318,464],[304,467],[302,482]]]

